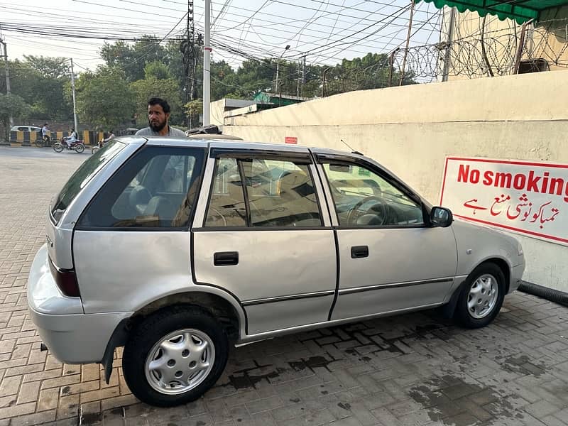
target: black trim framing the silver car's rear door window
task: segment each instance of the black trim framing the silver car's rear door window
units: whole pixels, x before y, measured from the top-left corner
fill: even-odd
[[[288,155],[292,154],[292,155]],[[314,173],[312,173],[312,168],[310,165],[315,165],[311,153],[295,153],[295,152],[283,152],[283,151],[273,151],[273,150],[243,150],[243,149],[231,149],[231,148],[215,148],[209,154],[209,158],[214,159],[215,164],[213,168],[213,175],[211,179],[211,185],[209,185],[209,195],[207,197],[207,204],[205,206],[205,212],[203,216],[202,226],[200,228],[193,228],[198,231],[290,231],[290,230],[315,230],[315,229],[330,229],[329,226],[325,226],[324,216],[322,212],[322,197],[317,190],[315,185]],[[237,163],[237,168],[239,168],[239,175],[241,177],[241,190],[243,191],[244,204],[246,209],[246,220],[245,226],[206,226],[207,215],[209,214],[209,207],[211,203],[211,198],[213,194],[213,186],[215,182],[215,177],[217,170],[219,168],[219,160],[221,158],[234,158]],[[319,226],[252,226],[251,225],[251,207],[249,204],[249,193],[246,189],[246,175],[243,166],[243,160],[278,160],[278,161],[289,161],[295,165],[305,165],[307,168],[307,173],[312,180],[312,187],[314,188],[314,194],[317,202],[317,211],[320,215],[320,225]],[[302,161],[302,160],[305,160]],[[319,178],[319,175],[318,175]]]

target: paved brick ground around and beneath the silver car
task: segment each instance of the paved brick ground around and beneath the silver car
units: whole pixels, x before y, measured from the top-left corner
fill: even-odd
[[[234,349],[217,386],[172,409],[138,403],[119,361],[109,385],[60,364],[26,279],[48,201],[85,158],[0,147],[0,426],[568,425],[568,309],[523,293],[485,329],[422,312]]]

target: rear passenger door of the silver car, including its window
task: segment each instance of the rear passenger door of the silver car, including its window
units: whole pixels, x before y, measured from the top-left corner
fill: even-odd
[[[247,334],[327,321],[337,257],[310,153],[210,156],[192,229],[196,282],[239,299]]]

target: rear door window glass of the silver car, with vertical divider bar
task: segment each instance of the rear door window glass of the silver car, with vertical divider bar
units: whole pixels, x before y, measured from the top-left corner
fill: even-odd
[[[322,226],[305,162],[275,158],[216,161],[205,226]]]

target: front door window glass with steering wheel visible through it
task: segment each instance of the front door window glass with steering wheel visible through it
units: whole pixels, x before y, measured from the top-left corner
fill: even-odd
[[[370,168],[324,163],[340,226],[420,226],[422,205]]]

